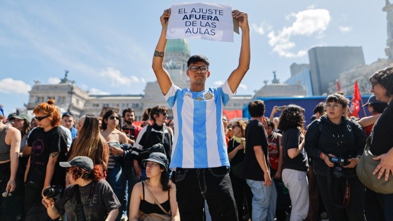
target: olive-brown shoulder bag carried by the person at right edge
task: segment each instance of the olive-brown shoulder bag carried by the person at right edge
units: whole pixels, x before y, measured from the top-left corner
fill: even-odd
[[[372,174],[375,167],[377,167],[381,162],[373,160],[373,157],[376,156],[371,153],[370,146],[366,144],[359,164],[356,166],[356,173],[358,174],[359,180],[368,189],[374,192],[383,194],[393,193],[393,179],[390,177],[390,175],[388,181],[385,181],[385,176],[381,177],[381,179],[378,179],[377,174]]]

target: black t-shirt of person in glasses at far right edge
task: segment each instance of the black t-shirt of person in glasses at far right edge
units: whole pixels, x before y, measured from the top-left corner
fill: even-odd
[[[387,153],[393,147],[393,102],[375,122],[372,128],[370,150],[374,155]]]

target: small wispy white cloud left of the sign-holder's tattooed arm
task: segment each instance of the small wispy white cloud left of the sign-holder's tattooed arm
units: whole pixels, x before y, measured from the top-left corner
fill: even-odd
[[[100,76],[109,79],[111,81],[112,86],[120,86],[120,85],[131,86],[131,83],[141,82],[141,80],[137,76],[134,75],[130,77],[124,76],[121,74],[119,70],[116,70],[111,67],[101,69]]]

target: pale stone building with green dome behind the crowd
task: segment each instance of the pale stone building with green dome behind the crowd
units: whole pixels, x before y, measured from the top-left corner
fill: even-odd
[[[190,46],[187,39],[169,39],[165,52],[164,67],[168,71],[174,84],[180,88],[190,86],[186,76],[187,60],[191,56]],[[120,109],[120,111],[132,108],[135,111],[136,120],[147,108],[157,105],[168,108],[168,117],[173,116],[172,110],[162,96],[158,82],[148,82],[143,94],[120,94],[120,95],[92,95],[68,79],[68,71],[58,84],[41,84],[35,81],[29,91],[29,101],[26,104],[28,111],[33,110],[39,103],[48,99],[55,99],[56,106],[61,112],[71,111],[76,118],[84,114],[100,115],[105,107]],[[251,101],[251,95],[235,95],[224,110],[241,110]]]

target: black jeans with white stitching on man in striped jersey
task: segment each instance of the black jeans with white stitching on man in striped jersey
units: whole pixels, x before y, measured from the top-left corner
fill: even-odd
[[[177,168],[176,199],[180,220],[203,221],[205,200],[212,221],[238,220],[226,166]]]

